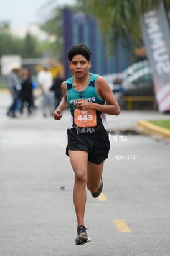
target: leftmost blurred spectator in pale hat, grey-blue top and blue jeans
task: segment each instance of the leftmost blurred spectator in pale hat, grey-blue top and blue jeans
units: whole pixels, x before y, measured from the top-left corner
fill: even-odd
[[[21,110],[21,100],[19,91],[21,90],[21,67],[17,64],[12,65],[11,72],[7,77],[7,86],[12,96],[12,105],[7,110],[7,115],[16,118],[17,111]]]

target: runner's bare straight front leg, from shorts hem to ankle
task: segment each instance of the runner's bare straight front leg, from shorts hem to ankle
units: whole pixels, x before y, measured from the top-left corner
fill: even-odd
[[[86,185],[87,185],[87,151],[69,150],[70,163],[75,172],[75,183],[73,188],[73,202],[77,216],[77,225],[84,225],[84,213],[86,203]]]

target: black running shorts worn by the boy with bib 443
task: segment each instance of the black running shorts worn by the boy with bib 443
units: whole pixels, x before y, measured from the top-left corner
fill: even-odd
[[[108,158],[110,141],[106,130],[93,133],[77,133],[75,129],[67,129],[67,140],[67,156],[69,156],[68,150],[87,151],[88,161],[97,165]]]

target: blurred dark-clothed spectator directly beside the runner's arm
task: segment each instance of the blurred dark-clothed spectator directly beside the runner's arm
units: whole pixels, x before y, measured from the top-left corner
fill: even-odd
[[[59,105],[62,99],[62,89],[61,84],[64,82],[64,73],[60,72],[57,77],[54,79],[52,87],[50,88],[51,91],[54,91],[55,94],[55,108]]]

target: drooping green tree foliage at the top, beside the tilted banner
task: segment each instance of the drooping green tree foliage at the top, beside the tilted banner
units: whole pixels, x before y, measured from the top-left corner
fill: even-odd
[[[140,15],[158,6],[160,2],[161,0],[77,0],[79,9],[98,19],[108,45],[122,37],[133,47],[141,45]],[[170,0],[165,0],[164,4],[169,9]]]

